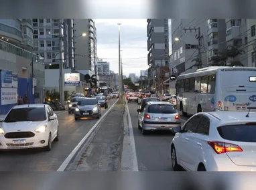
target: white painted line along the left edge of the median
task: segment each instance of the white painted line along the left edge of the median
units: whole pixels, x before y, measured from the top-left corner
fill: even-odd
[[[119,99],[117,99],[117,101],[118,100]],[[88,139],[88,137],[90,137],[90,134],[92,133],[92,131],[94,131],[94,129],[97,127],[97,125],[99,125],[99,123],[101,123],[101,121],[106,117],[106,115],[109,113],[109,111],[111,111],[111,109],[114,107],[114,105],[117,103],[117,101],[115,101],[115,103],[113,103],[113,105],[108,109],[108,111],[106,111],[106,113],[104,115],[102,115],[101,118],[97,121],[97,123],[95,123],[93,125],[92,129],[90,129],[90,131],[88,131],[88,133],[84,136],[84,138],[82,138],[82,140],[78,143],[78,145],[76,145],[74,150],[70,153],[70,155],[68,155],[68,157],[64,160],[62,165],[60,165],[60,167],[57,171],[64,171],[66,169],[66,167],[68,166],[68,164],[70,163],[70,161],[72,160],[74,155],[76,155],[76,153],[80,149],[80,147],[84,144],[84,142]]]

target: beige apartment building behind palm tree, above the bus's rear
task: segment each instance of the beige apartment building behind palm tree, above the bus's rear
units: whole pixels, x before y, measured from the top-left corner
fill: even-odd
[[[240,51],[243,51],[240,55],[229,57],[227,64],[233,61],[239,61],[244,66],[248,66],[250,57],[249,48],[252,47],[252,45],[248,44],[251,29],[248,29],[247,19],[226,19],[226,29],[227,47],[237,47]]]

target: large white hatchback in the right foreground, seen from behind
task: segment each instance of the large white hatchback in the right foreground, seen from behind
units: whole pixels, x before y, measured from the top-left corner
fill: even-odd
[[[256,171],[256,113],[247,114],[201,112],[190,117],[182,128],[174,127],[174,171]]]

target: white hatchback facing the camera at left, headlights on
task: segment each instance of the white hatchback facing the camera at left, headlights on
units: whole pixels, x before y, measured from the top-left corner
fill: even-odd
[[[49,105],[16,105],[0,123],[0,149],[52,149],[59,140],[57,115]]]

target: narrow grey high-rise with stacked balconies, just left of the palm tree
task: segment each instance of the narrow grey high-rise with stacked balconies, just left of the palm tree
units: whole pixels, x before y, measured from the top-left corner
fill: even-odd
[[[218,60],[218,53],[226,49],[226,21],[225,19],[207,20],[207,38],[208,38],[208,63],[214,63]],[[214,59],[216,57],[216,59]]]

